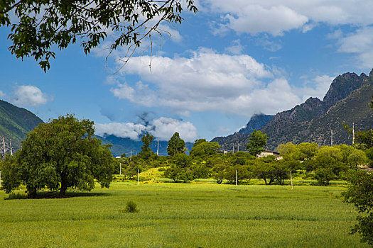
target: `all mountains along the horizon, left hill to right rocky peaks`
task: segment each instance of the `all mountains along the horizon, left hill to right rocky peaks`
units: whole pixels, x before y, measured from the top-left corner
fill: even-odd
[[[263,113],[253,115],[245,128],[227,137],[215,137],[223,150],[245,150],[253,130],[261,130],[268,135],[267,149],[276,150],[283,143],[317,142],[319,145],[330,145],[333,130],[333,144],[352,143],[350,133],[343,128],[344,124],[355,125],[355,130],[372,128],[373,111],[368,103],[373,96],[373,70],[369,76],[347,72],[336,77],[323,100],[310,97],[304,103],[276,115]],[[43,120],[24,108],[0,100],[0,139],[4,137],[6,150],[9,151],[9,140],[14,150],[21,148],[21,141]],[[97,136],[98,137],[98,136]],[[141,150],[141,140],[126,137],[104,135],[99,137],[110,148],[114,156],[123,153],[137,154]],[[0,140],[2,142],[2,139]],[[167,154],[167,141],[153,141],[151,149],[160,155]],[[185,143],[191,150],[193,143]],[[4,147],[0,145],[0,154]]]

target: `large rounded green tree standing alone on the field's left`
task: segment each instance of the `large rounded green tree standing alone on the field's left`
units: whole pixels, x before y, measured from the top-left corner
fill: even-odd
[[[95,181],[109,187],[114,172],[112,154],[94,137],[93,122],[68,114],[39,124],[4,164],[4,190],[23,182],[30,198],[44,187],[62,196],[70,187],[90,191]]]

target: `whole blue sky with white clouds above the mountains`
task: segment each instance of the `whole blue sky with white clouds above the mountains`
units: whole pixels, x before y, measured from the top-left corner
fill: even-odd
[[[200,0],[171,33],[148,41],[123,65],[126,47],[107,63],[107,43],[90,55],[58,51],[45,74],[16,60],[0,28],[0,98],[43,120],[75,113],[97,134],[136,139],[211,140],[242,128],[254,113],[275,114],[323,98],[345,72],[373,67],[371,0]],[[151,55],[151,56],[150,56]],[[151,62],[151,69],[149,63]],[[117,72],[114,74],[114,72]]]

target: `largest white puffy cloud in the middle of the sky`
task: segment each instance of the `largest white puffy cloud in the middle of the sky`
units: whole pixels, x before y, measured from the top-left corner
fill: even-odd
[[[116,76],[114,96],[141,106],[165,106],[183,115],[217,111],[250,117],[283,111],[301,103],[303,95],[323,91],[317,80],[316,86],[299,91],[276,68],[249,55],[201,49],[191,57],[153,57],[151,71],[147,62],[146,56],[131,58]],[[141,81],[130,84],[129,75],[138,75]]]

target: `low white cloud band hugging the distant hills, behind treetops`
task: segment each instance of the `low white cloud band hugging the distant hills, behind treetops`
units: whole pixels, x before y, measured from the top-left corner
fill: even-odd
[[[115,135],[117,137],[129,137],[131,140],[139,140],[144,133],[150,133],[158,140],[169,140],[175,132],[180,134],[183,140],[193,142],[197,137],[197,128],[190,122],[183,122],[173,118],[161,117],[154,119],[149,125],[135,123],[96,123],[96,134],[99,136]]]

